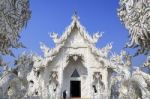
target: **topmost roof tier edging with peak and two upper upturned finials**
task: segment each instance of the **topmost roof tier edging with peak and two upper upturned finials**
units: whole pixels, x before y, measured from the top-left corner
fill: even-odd
[[[72,30],[74,27],[77,27],[78,30],[80,31],[81,35],[84,37],[85,40],[87,40],[90,44],[95,44],[98,39],[102,36],[102,34],[100,34],[99,32],[97,32],[96,34],[93,35],[93,37],[91,37],[88,32],[86,31],[85,27],[82,26],[79,22],[79,17],[74,14],[72,16],[72,22],[71,24],[66,28],[65,32],[62,34],[62,36],[60,38],[58,38],[56,33],[51,33],[51,37],[54,40],[54,42],[56,44],[61,44],[64,41],[67,40],[68,36],[72,33]]]

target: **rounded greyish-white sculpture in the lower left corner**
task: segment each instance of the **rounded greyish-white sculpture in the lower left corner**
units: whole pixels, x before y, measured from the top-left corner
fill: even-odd
[[[0,79],[1,98],[21,97],[21,80],[12,72],[7,72]]]

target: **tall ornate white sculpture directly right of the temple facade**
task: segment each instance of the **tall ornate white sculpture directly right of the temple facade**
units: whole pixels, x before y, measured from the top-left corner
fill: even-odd
[[[129,87],[126,87],[124,84],[126,84],[131,77],[131,73],[129,71],[131,66],[131,56],[125,51],[121,51],[120,55],[112,54],[110,64],[113,71],[117,74],[116,76],[113,76],[112,74],[111,77],[110,98],[127,99],[126,94]]]

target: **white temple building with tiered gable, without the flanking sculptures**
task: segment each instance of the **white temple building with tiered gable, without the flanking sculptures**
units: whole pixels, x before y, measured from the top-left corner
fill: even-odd
[[[95,33],[91,37],[76,14],[60,38],[56,33],[50,36],[56,47],[50,49],[41,43],[44,58],[41,65],[34,64],[40,82],[32,73],[28,81],[37,82],[35,87],[40,86],[42,89],[39,93],[50,99],[59,99],[64,92],[72,98],[107,99],[112,73],[108,53],[112,45],[97,49],[95,44],[102,34]]]

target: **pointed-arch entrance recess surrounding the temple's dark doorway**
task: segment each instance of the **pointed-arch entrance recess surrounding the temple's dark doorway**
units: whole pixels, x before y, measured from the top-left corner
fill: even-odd
[[[69,58],[69,63],[63,71],[63,90],[67,91],[69,97],[82,97],[82,87],[85,87],[83,77],[87,76],[87,73],[81,58]]]

